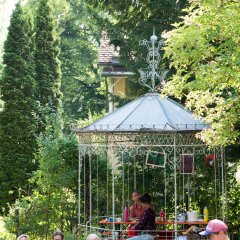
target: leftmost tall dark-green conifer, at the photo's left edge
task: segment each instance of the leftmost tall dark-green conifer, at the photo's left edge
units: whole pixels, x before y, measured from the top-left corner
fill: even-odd
[[[4,44],[0,81],[3,111],[0,112],[0,206],[14,201],[18,189],[28,190],[36,169],[36,83],[34,79],[31,19],[20,4],[12,14]]]

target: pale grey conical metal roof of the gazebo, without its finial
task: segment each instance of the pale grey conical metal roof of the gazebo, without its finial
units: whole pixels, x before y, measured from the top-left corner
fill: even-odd
[[[158,93],[142,97],[107,114],[80,132],[201,131],[208,128],[190,111]]]

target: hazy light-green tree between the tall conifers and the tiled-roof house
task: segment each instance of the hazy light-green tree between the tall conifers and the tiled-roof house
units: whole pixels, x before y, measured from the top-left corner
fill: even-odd
[[[89,111],[100,113],[105,104],[96,65],[102,29],[93,12],[97,10],[85,1],[69,1],[60,25],[63,108],[74,119],[86,118]]]

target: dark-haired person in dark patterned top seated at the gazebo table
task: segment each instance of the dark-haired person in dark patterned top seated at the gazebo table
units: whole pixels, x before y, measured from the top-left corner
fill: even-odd
[[[145,193],[139,197],[139,201],[141,205],[145,208],[145,211],[143,213],[142,218],[140,219],[139,223],[137,223],[135,226],[133,226],[131,230],[134,230],[137,232],[138,235],[135,237],[130,238],[131,240],[152,240],[154,239],[153,234],[156,230],[156,212],[155,209],[151,203],[151,197],[148,193]],[[153,230],[153,232],[151,231]]]

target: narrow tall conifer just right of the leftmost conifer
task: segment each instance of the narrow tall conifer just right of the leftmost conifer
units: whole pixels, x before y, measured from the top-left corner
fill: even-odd
[[[55,33],[56,20],[48,0],[40,0],[36,14],[36,81],[37,98],[41,108],[46,107],[57,112],[61,107],[61,69],[59,56],[59,40]],[[45,112],[45,111],[44,111]],[[44,130],[46,123],[44,114],[41,117]]]

